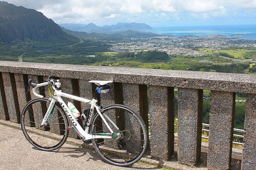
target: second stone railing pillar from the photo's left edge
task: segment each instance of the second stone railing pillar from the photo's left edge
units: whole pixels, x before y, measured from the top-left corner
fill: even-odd
[[[20,108],[13,73],[2,72],[6,102],[11,122],[20,123]]]

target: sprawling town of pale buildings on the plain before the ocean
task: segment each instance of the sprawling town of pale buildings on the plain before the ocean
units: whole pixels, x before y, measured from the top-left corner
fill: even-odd
[[[114,45],[110,50],[120,51],[164,51],[169,55],[194,55],[206,56],[207,52],[216,52],[230,47],[251,48],[256,47],[256,41],[243,40],[238,37],[226,37],[222,35],[208,36],[157,36],[152,38],[131,38],[130,42],[121,42]],[[197,49],[211,49],[200,52]]]

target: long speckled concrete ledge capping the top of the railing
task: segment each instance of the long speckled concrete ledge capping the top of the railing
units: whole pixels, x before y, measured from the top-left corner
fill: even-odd
[[[55,75],[85,80],[256,93],[255,75],[1,61],[0,72]],[[246,88],[245,88],[246,87]]]

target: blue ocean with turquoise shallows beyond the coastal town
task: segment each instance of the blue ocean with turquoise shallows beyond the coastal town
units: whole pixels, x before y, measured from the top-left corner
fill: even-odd
[[[161,35],[171,34],[174,37],[223,35],[256,40],[256,24],[152,27],[152,30],[147,30],[146,32]]]

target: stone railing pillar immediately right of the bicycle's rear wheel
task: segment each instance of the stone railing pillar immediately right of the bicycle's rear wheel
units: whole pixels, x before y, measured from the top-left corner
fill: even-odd
[[[174,150],[174,88],[149,86],[151,156],[168,160]]]

